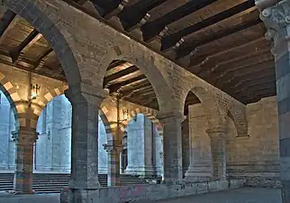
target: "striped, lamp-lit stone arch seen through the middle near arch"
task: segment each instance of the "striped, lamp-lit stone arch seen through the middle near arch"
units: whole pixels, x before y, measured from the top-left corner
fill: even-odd
[[[135,110],[131,111],[129,118],[126,121],[122,122],[122,131],[124,131],[125,126],[127,126],[129,124],[129,122],[131,121],[131,119],[134,116],[136,116],[138,114],[142,114],[150,119],[152,124],[157,127],[159,135],[162,136],[163,135],[163,128],[162,128],[161,123],[159,122],[159,119],[156,118],[157,113],[158,113],[157,111],[155,111],[149,107],[145,107],[145,106],[140,106],[139,108],[136,108]]]

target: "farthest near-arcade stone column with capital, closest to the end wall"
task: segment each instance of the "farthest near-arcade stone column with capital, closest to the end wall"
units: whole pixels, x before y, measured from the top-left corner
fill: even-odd
[[[211,138],[213,179],[226,179],[226,127],[214,127],[206,133]]]

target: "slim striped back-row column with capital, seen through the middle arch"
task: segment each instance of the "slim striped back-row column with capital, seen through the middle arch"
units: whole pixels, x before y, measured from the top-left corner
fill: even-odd
[[[108,187],[120,185],[120,152],[122,146],[113,143],[104,144],[104,149],[108,152]]]

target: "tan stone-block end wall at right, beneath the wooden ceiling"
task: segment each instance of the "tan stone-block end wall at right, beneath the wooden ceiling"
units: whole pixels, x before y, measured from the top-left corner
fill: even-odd
[[[228,173],[249,185],[279,186],[276,97],[247,106],[248,138],[228,136]]]

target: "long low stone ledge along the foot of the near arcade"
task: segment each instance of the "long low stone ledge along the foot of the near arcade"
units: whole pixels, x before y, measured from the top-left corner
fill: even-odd
[[[60,193],[60,203],[66,203],[66,199],[68,200],[66,197],[71,197],[72,195],[75,196],[74,198],[91,199],[92,203],[125,203],[140,200],[161,200],[193,196],[226,189],[239,189],[244,186],[244,182],[244,180],[214,180],[201,182],[180,181],[179,183],[177,182],[171,185],[133,185],[100,188],[96,190],[69,190],[69,192],[63,190]]]

